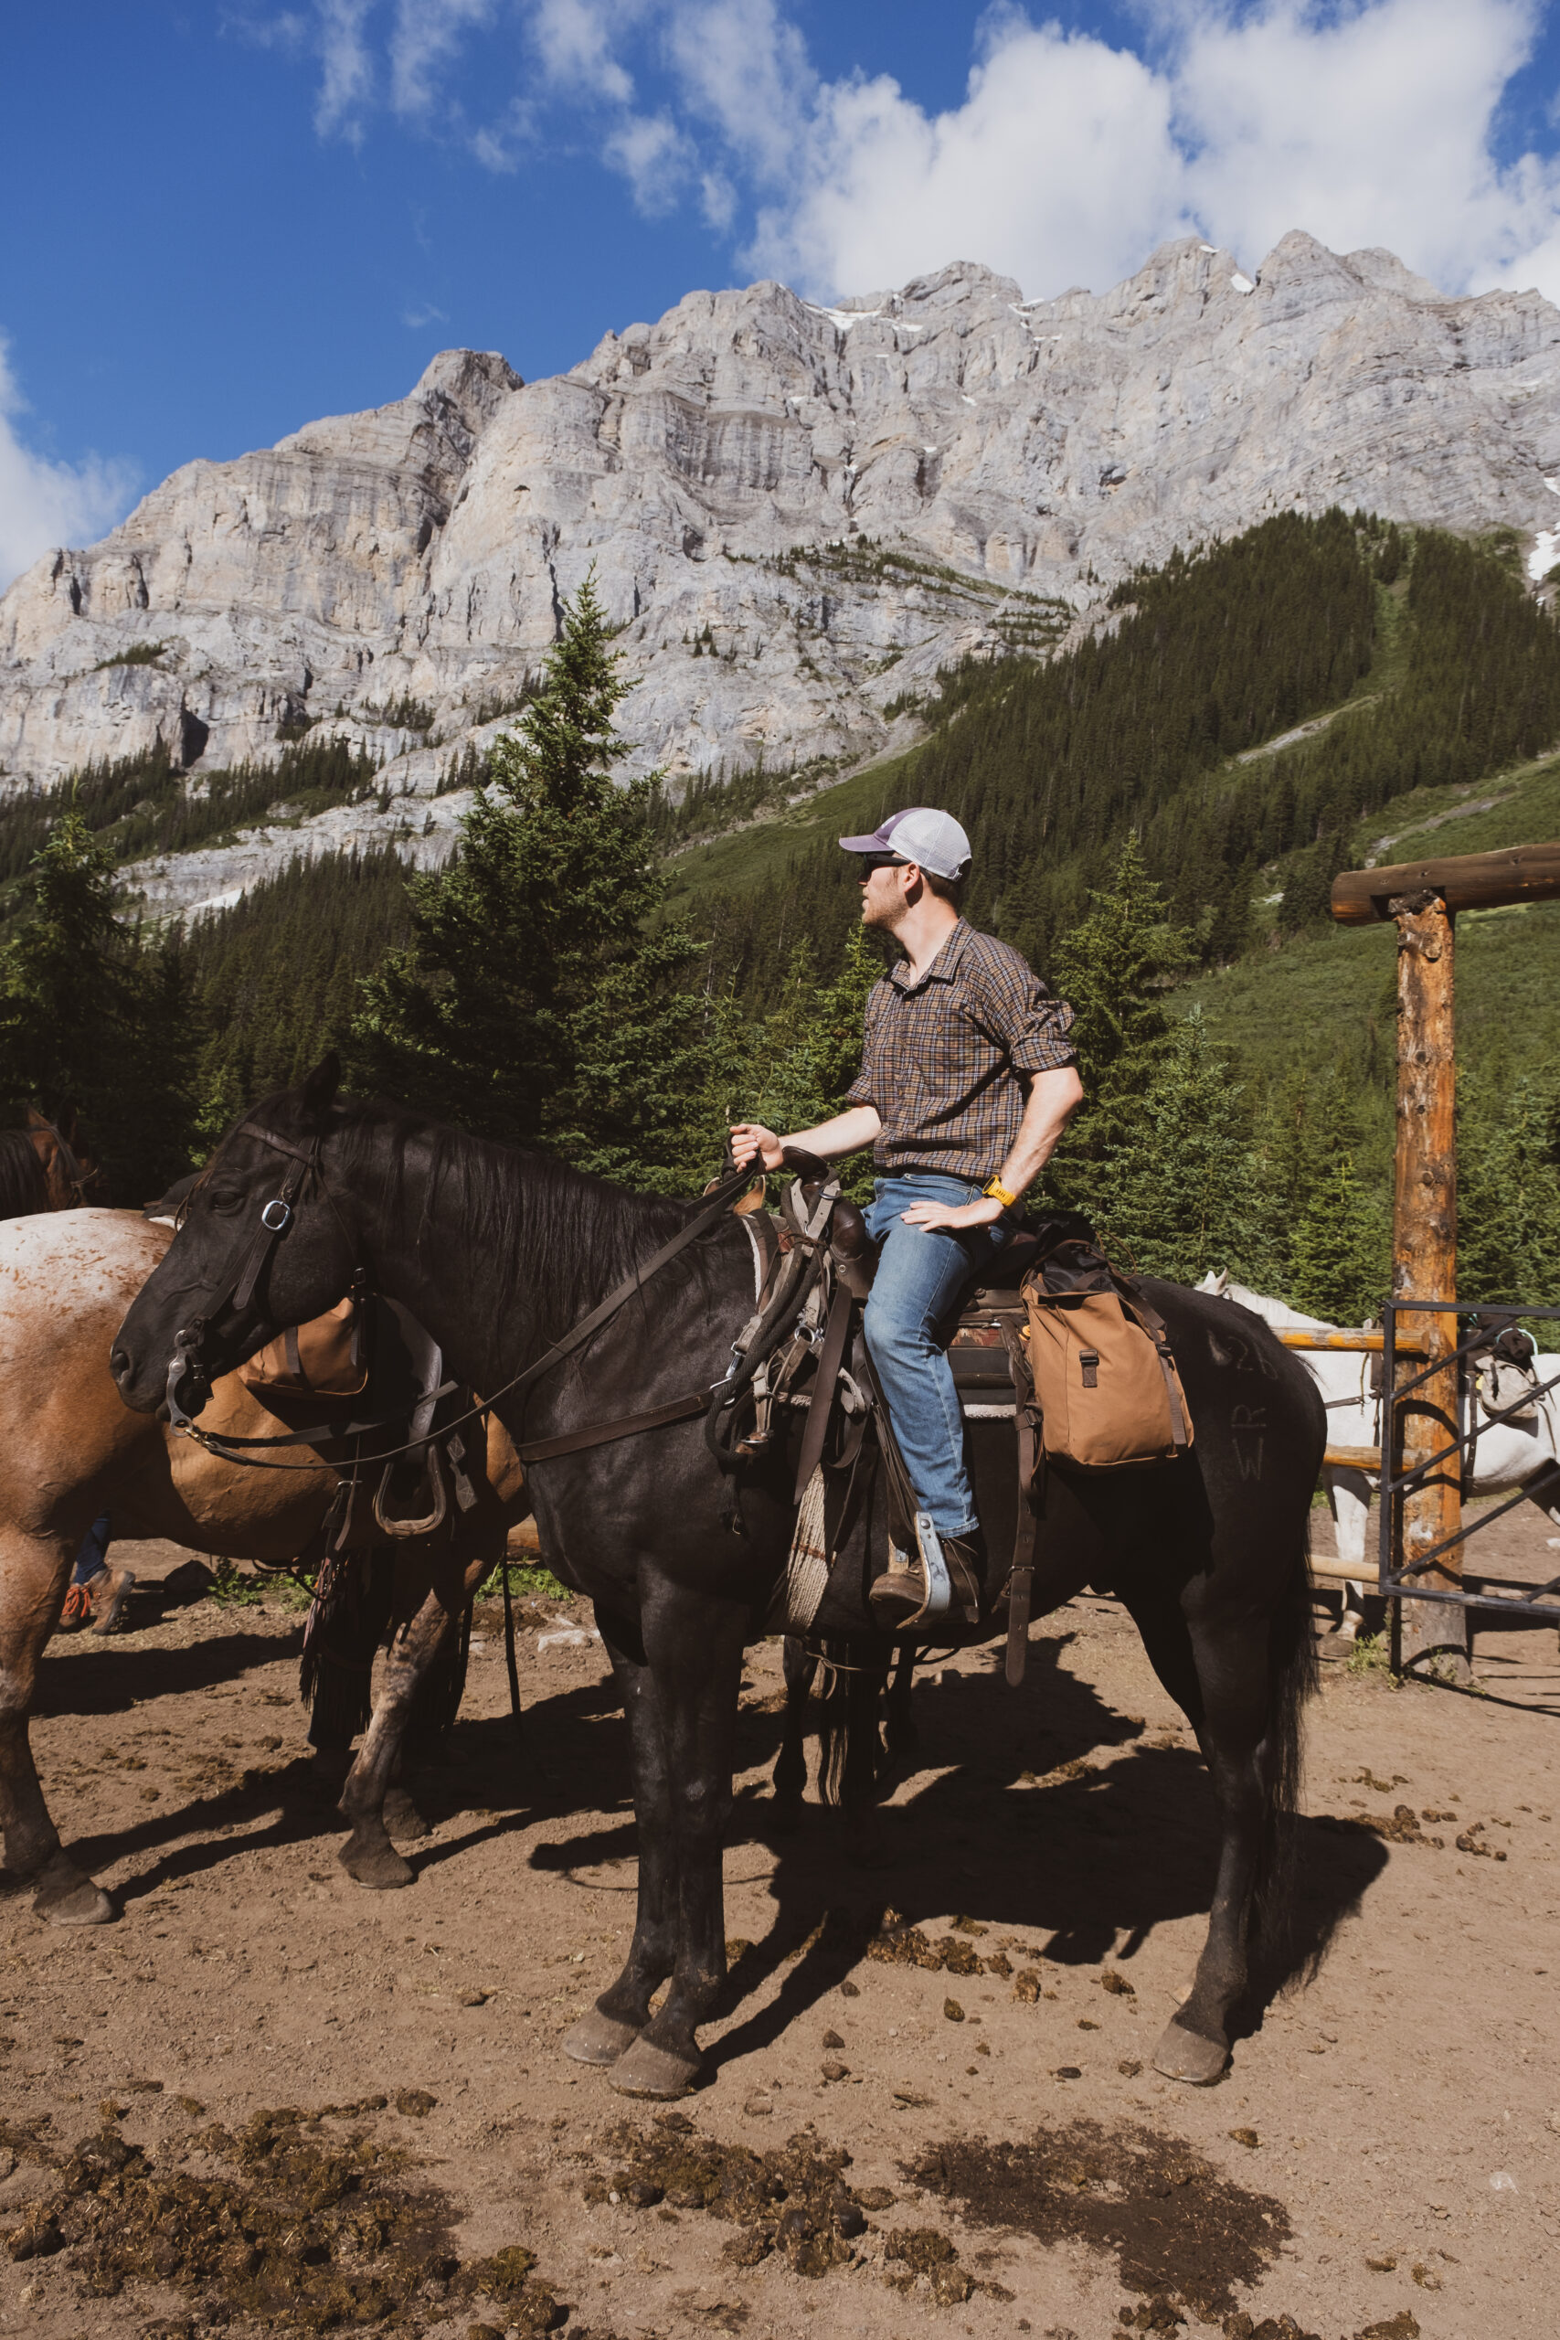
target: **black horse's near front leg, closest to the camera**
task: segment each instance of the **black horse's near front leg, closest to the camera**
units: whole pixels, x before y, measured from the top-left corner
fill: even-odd
[[[676,1966],[660,2015],[613,2066],[613,2087],[624,2097],[681,2097],[695,2083],[697,2029],[725,1984],[720,1849],[732,1811],[748,1615],[744,1601],[650,1580],[643,1633],[676,1860]]]

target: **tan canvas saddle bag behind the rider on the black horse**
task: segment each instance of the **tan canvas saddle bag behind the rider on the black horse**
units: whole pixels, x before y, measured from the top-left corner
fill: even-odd
[[[1027,1346],[1050,1462],[1174,1462],[1193,1418],[1165,1320],[1092,1245],[1062,1243],[1024,1275]]]

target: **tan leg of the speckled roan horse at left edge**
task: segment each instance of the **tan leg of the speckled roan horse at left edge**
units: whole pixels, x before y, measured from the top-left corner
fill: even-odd
[[[58,1624],[73,1556],[70,1537],[0,1540],[0,1821],[5,1865],[33,1884],[37,1916],[49,1926],[108,1926],[115,1905],[63,1851],[28,1741],[37,1659]]]

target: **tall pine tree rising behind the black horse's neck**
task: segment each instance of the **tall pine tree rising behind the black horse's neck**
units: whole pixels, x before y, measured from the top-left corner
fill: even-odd
[[[697,945],[655,924],[653,782],[613,782],[617,665],[587,578],[456,859],[409,882],[412,941],[363,985],[351,1055],[356,1079],[477,1135],[681,1189]]]

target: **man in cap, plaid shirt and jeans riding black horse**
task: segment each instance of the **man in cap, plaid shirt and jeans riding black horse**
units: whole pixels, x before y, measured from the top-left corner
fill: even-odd
[[[886,927],[900,959],[868,997],[847,1109],[793,1137],[739,1121],[732,1158],[779,1170],[786,1147],[823,1158],[872,1147],[865,1219],[879,1259],[865,1338],[954,1601],[975,1608],[985,1549],[947,1336],[959,1292],[1008,1240],[1083,1100],[1067,1044],[1074,1011],[1017,950],[961,917],[971,840],[952,814],[919,805],[840,847],[861,863],[863,924]],[[896,1558],[872,1584],[872,1615],[889,1629],[924,1601],[919,1558]]]

